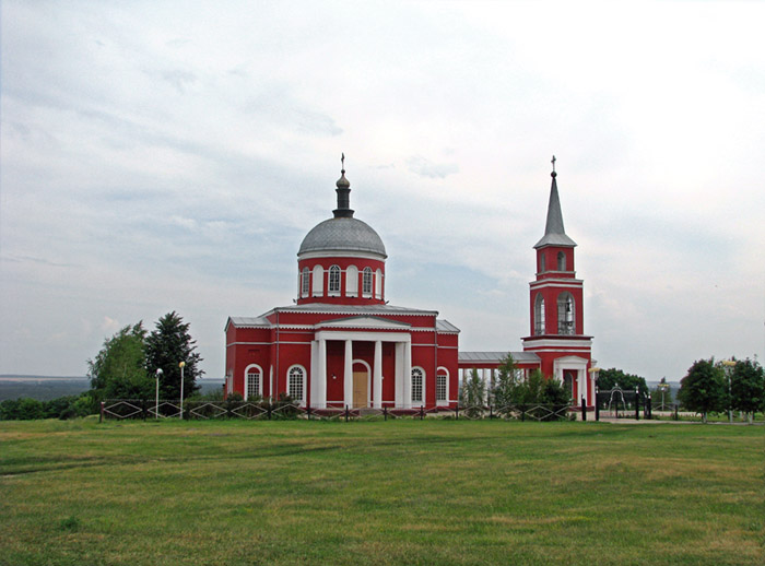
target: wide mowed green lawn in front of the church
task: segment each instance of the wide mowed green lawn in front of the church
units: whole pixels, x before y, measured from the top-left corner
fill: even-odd
[[[762,565],[758,426],[0,423],[0,564]]]

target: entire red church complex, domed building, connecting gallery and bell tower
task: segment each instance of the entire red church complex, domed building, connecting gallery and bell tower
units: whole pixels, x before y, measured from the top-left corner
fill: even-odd
[[[511,352],[520,372],[562,380],[577,404],[592,404],[592,338],[584,333],[582,281],[576,244],[565,233],[552,173],[544,236],[534,246],[530,335]],[[289,394],[303,406],[454,409],[460,373],[482,372],[487,386],[508,352],[458,352],[459,329],[435,310],[396,307],[385,298],[381,238],[350,208],[345,169],[333,216],[316,225],[297,252],[294,305],[259,317],[229,317],[226,393],[245,399]]]

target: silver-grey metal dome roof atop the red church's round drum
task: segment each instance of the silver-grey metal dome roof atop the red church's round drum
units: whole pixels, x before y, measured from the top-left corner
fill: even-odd
[[[317,224],[303,238],[297,255],[311,251],[365,251],[387,258],[379,235],[365,222],[353,217],[329,219]]]

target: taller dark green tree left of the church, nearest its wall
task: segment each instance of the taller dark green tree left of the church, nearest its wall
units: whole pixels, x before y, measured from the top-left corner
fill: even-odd
[[[197,350],[197,341],[189,334],[188,322],[184,322],[175,311],[160,318],[156,328],[146,337],[146,368],[154,377],[162,369],[161,394],[165,399],[180,397],[180,363],[184,362],[184,398],[199,389],[197,379],[202,377],[199,363],[202,357]]]

